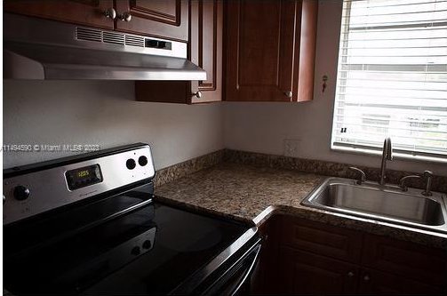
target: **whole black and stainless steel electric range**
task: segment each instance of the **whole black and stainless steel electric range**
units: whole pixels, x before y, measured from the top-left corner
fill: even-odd
[[[234,294],[257,228],[156,200],[147,144],[4,171],[12,294]]]

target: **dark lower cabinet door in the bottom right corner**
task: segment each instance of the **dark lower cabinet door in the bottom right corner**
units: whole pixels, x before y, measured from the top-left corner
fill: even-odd
[[[358,286],[359,293],[374,295],[439,295],[443,293],[440,287],[368,268],[363,268]]]

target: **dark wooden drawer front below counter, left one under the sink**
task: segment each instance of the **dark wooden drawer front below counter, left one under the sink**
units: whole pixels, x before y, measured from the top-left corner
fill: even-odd
[[[338,260],[360,262],[362,233],[310,220],[282,218],[282,244]]]

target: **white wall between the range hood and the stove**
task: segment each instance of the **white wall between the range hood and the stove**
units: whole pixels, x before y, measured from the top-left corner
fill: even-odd
[[[224,148],[220,103],[139,102],[132,82],[4,81],[4,144],[148,142],[156,168]],[[4,168],[68,153],[4,152]]]

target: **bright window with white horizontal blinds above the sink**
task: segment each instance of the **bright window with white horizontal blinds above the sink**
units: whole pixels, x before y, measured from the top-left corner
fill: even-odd
[[[331,148],[447,159],[447,0],[345,0]]]

